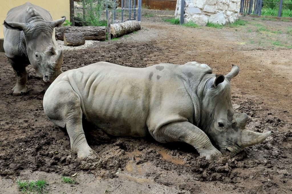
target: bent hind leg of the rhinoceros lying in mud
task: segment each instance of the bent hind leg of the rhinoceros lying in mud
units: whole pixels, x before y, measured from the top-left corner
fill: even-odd
[[[60,81],[54,87],[48,88],[43,105],[48,118],[67,129],[72,153],[77,154],[81,160],[94,153],[87,144],[82,128],[80,97],[68,81]]]

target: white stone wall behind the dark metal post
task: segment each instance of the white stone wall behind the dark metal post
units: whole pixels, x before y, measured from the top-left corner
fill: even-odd
[[[181,0],[177,0],[175,17],[180,17]],[[200,26],[207,22],[233,23],[238,19],[240,0],[185,0],[184,22],[193,21]]]

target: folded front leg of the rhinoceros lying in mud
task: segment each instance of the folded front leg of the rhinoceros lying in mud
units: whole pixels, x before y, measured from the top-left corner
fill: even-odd
[[[222,155],[216,149],[208,136],[190,122],[171,122],[159,129],[153,130],[152,136],[161,143],[181,141],[192,145],[200,155],[206,156],[206,159],[216,155]]]

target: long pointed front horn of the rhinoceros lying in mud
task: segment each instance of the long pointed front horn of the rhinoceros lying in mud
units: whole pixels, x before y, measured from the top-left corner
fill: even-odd
[[[241,141],[239,142],[239,146],[244,148],[244,147],[261,143],[263,140],[269,137],[270,134],[271,134],[271,131],[268,131],[265,133],[257,133],[254,131],[243,129],[241,131]]]

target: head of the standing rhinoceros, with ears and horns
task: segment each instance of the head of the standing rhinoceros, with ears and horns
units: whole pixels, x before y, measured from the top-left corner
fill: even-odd
[[[32,7],[27,9],[25,16],[27,23],[6,22],[7,29],[23,31],[20,36],[24,38],[22,45],[25,45],[29,62],[36,70],[36,74],[43,77],[45,83],[51,83],[62,73],[63,63],[62,50],[56,50],[53,31],[56,26],[62,25],[65,17],[56,21],[47,22]]]

